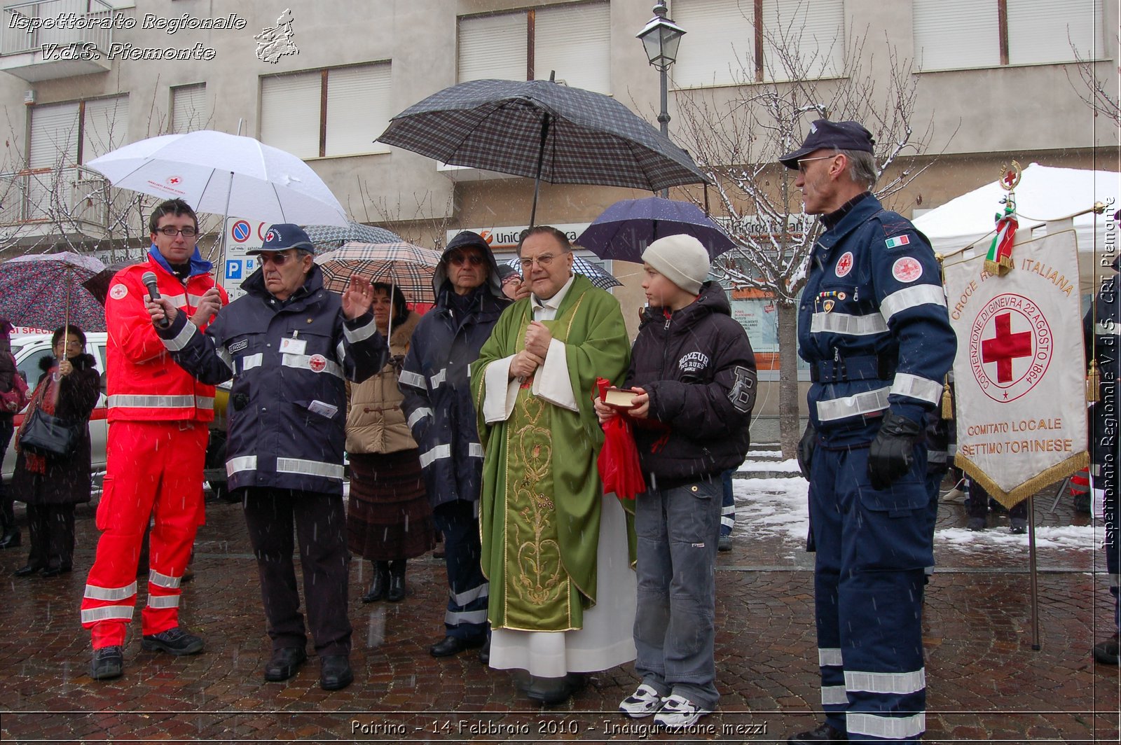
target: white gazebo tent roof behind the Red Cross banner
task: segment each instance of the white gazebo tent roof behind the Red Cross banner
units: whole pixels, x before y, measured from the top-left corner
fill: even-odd
[[[930,239],[937,253],[948,253],[976,243],[979,250],[986,251],[992,240],[1000,201],[1008,193],[998,181],[966,192],[915,218],[915,226]],[[1110,257],[1121,251],[1118,245],[1118,221],[1113,217],[1121,207],[1121,174],[1112,170],[1088,170],[1082,168],[1053,168],[1031,164],[1023,169],[1016,187],[1016,208],[1019,230],[1031,230],[1032,235],[1045,235],[1046,221],[1067,217],[1083,212],[1095,202],[1105,204],[1105,213],[1080,215],[1074,218],[1074,230],[1078,240],[1078,270],[1083,295],[1094,291],[1094,278],[1103,271],[1097,258]],[[1112,225],[1112,233],[1106,226]],[[1034,230],[1032,230],[1034,229]]]

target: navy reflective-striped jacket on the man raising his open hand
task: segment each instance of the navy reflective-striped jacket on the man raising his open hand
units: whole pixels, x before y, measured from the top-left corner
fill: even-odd
[[[241,287],[247,295],[222,308],[205,334],[182,313],[159,330],[175,361],[198,380],[233,378],[230,488],[341,494],[344,378],[361,382],[388,356],[373,314],[345,320],[341,299],[323,288],[317,266],[285,302],[265,289],[260,270]]]

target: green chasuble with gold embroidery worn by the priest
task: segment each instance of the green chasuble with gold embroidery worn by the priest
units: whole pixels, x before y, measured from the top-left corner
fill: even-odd
[[[577,274],[556,318],[543,323],[565,344],[580,412],[534,395],[526,381],[509,419],[487,425],[484,371],[525,348],[532,317],[529,298],[507,308],[471,365],[485,453],[479,523],[488,617],[495,628],[571,631],[583,627],[584,608],[595,605],[603,430],[592,394],[596,378],[623,379],[630,342],[619,301]],[[632,504],[624,502],[631,513]]]

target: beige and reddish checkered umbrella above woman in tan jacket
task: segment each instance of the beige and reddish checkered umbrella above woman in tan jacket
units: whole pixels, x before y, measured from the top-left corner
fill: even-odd
[[[351,276],[371,282],[397,286],[410,302],[435,302],[432,278],[439,263],[439,251],[411,243],[348,243],[343,248],[316,257],[323,269],[323,283],[342,294]]]

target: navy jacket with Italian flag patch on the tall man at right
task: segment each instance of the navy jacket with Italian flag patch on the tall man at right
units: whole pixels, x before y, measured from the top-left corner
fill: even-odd
[[[798,309],[798,354],[819,381],[810,421],[833,445],[870,441],[888,409],[921,423],[956,348],[926,236],[867,194],[810,254]]]

